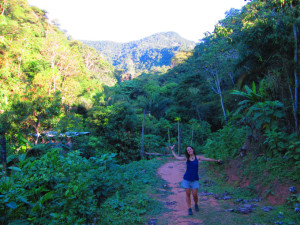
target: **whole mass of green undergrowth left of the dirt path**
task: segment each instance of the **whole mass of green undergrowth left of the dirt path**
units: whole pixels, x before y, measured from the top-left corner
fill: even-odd
[[[57,148],[41,157],[19,155],[19,167],[1,176],[1,224],[142,224],[157,204],[147,193],[157,183],[159,162],[120,166],[114,157],[86,159]]]

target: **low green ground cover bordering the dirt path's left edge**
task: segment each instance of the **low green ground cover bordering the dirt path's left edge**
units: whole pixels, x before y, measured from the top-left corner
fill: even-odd
[[[100,207],[101,224],[145,224],[142,216],[149,212],[153,200],[148,190],[157,184],[157,160],[141,160],[110,170],[110,182],[120,184],[118,191]]]

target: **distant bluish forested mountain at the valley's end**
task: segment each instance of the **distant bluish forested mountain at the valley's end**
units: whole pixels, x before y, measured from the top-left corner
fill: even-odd
[[[124,70],[123,79],[132,79],[142,72],[166,71],[171,59],[180,51],[190,51],[195,43],[175,32],[151,35],[138,41],[83,41],[95,48],[118,69]],[[161,68],[163,67],[163,69]]]

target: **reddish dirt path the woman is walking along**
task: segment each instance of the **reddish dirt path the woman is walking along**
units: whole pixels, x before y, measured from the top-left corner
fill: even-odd
[[[162,189],[168,190],[169,194],[160,196],[159,201],[162,201],[168,211],[155,223],[155,225],[241,225],[250,224],[247,215],[233,215],[226,212],[226,208],[231,207],[232,203],[220,202],[213,196],[202,195],[203,187],[200,185],[198,192],[200,212],[194,210],[194,202],[192,200],[192,208],[194,215],[188,215],[188,208],[185,200],[185,190],[180,186],[183,178],[186,165],[184,161],[171,161],[162,165],[158,169],[158,174],[166,181],[167,186]],[[205,169],[199,164],[200,183],[206,179]],[[239,219],[237,218],[239,217]],[[238,221],[237,221],[238,219]],[[243,221],[243,222],[241,222]]]

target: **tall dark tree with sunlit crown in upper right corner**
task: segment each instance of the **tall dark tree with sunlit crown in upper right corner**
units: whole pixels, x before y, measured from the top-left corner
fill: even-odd
[[[241,28],[233,35],[233,42],[240,46],[240,68],[247,68],[246,78],[266,83],[266,92],[272,100],[292,106],[294,128],[298,125],[298,56],[299,56],[299,1],[251,1],[241,12]],[[238,35],[237,35],[238,34]],[[289,130],[291,128],[289,127]]]

